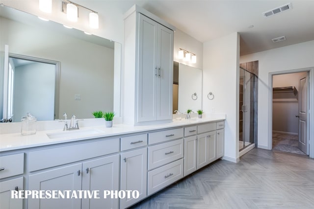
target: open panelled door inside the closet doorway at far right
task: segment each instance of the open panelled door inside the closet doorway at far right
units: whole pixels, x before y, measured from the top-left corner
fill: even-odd
[[[308,110],[309,110],[309,93],[308,93],[308,72],[304,72],[299,80],[299,141],[298,147],[305,154],[309,155],[309,123],[308,123]]]

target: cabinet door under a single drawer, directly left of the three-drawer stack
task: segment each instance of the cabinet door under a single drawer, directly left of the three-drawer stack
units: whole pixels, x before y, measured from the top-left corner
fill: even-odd
[[[121,154],[120,190],[138,190],[137,199],[120,199],[124,209],[147,196],[147,148],[136,149]]]

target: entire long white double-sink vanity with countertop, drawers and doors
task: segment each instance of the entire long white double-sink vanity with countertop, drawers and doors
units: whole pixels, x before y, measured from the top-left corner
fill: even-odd
[[[138,190],[137,199],[10,199],[28,209],[128,208],[221,158],[225,117],[1,135],[0,195],[10,190]],[[103,194],[100,194],[103,197]],[[9,196],[7,196],[9,197]]]

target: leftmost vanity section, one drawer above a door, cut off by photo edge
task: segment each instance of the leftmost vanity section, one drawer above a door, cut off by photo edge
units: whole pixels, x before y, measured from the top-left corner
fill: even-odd
[[[0,156],[0,179],[24,173],[24,153]],[[22,209],[23,199],[11,199],[12,190],[23,190],[23,177],[0,182],[0,208]]]

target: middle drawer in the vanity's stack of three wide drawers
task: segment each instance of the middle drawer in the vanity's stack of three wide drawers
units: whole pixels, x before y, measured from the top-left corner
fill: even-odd
[[[183,158],[183,139],[148,147],[148,170]]]

